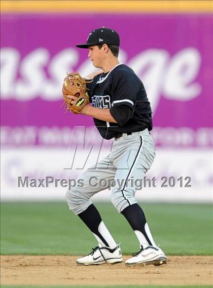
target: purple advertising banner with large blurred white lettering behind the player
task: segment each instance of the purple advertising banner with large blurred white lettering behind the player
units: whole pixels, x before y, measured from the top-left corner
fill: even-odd
[[[157,145],[212,147],[213,18],[197,14],[3,14],[2,145],[43,145],[44,129],[93,126],[90,117],[64,114],[61,86],[67,71],[95,70],[88,51],[75,45],[101,26],[118,31],[120,62],[145,84]],[[36,135],[21,142],[17,133]]]

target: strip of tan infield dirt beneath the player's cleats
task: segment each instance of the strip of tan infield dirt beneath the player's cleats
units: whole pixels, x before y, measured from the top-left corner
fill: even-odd
[[[78,256],[1,256],[1,283],[11,285],[210,285],[212,256],[170,256],[155,267],[77,266]],[[124,256],[124,261],[129,258]]]

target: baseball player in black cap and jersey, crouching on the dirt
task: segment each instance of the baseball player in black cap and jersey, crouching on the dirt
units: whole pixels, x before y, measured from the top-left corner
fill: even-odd
[[[98,242],[89,255],[77,260],[77,264],[115,264],[123,261],[120,245],[91,202],[94,194],[106,188],[98,182],[91,185],[90,179],[96,176],[108,181],[114,179],[111,201],[124,215],[140,244],[138,253],[134,253],[125,264],[158,266],[166,264],[167,258],[153,240],[145,214],[135,200],[138,188],[130,181],[143,178],[155,158],[156,150],[149,132],[152,130],[152,111],[143,83],[130,67],[119,63],[119,45],[118,33],[105,27],[89,33],[86,44],[76,45],[87,48],[93,65],[103,71],[86,84],[92,106],[86,103],[77,113],[93,117],[103,138],[114,138],[110,155],[80,176],[84,186],[73,187],[66,193],[69,209],[81,218]],[[75,106],[78,98],[73,95],[67,97],[70,105]],[[81,99],[79,104],[83,101]],[[73,109],[75,111],[75,107]]]

